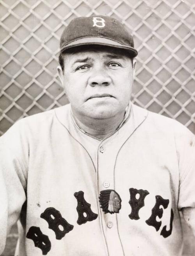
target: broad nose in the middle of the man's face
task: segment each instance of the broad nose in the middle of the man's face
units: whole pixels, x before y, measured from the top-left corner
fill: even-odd
[[[88,83],[91,87],[95,87],[97,85],[103,85],[108,86],[112,82],[112,79],[107,74],[105,69],[101,70],[94,70],[94,72],[91,74]]]

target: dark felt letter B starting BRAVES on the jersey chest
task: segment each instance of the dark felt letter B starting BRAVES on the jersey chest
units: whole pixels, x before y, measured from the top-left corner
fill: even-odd
[[[51,242],[48,236],[44,235],[39,227],[30,227],[27,238],[33,240],[35,247],[40,248],[43,255],[46,255],[51,250]]]

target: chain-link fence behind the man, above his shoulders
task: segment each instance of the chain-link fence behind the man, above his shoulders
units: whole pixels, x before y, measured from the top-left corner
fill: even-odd
[[[114,16],[138,49],[132,101],[195,133],[193,0],[2,0],[0,135],[16,120],[67,103],[58,41],[76,16]]]

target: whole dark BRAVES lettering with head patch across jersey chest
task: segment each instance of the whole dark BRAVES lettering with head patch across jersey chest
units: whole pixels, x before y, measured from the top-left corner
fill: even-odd
[[[149,192],[147,190],[143,189],[135,189],[130,188],[130,200],[129,204],[131,206],[131,213],[129,214],[129,218],[131,220],[139,220],[139,210],[144,207],[144,200],[147,195],[149,195]],[[138,195],[138,198],[137,198]],[[91,205],[85,201],[84,198],[84,192],[78,191],[74,193],[74,197],[77,200],[77,213],[78,213],[78,220],[77,224],[82,225],[85,224],[88,221],[96,220],[97,214],[93,213],[91,210]],[[159,231],[162,222],[157,221],[156,217],[158,216],[160,219],[163,216],[163,209],[160,208],[160,206],[163,206],[164,209],[167,209],[169,200],[162,198],[160,195],[157,195],[156,197],[156,203],[155,206],[152,208],[152,214],[145,222],[147,225],[152,226],[156,229],[156,231]],[[121,209],[121,197],[119,194],[112,189],[107,189],[100,191],[99,195],[99,204],[103,210],[103,212],[106,213],[119,213],[119,210]],[[65,234],[69,233],[71,230],[73,230],[73,225],[69,224],[64,218],[62,218],[62,215],[59,211],[57,211],[53,207],[48,207],[45,209],[43,213],[40,215],[41,218],[46,220],[48,222],[49,228],[52,229],[55,232],[55,236],[57,240],[62,239]],[[174,219],[174,213],[171,209],[170,214],[170,229],[167,230],[167,226],[165,225],[160,235],[164,238],[167,238],[172,233],[173,228],[173,219]],[[50,249],[51,249],[51,242],[45,234],[41,232],[41,229],[39,227],[30,227],[27,233],[27,238],[32,239],[35,247],[38,247],[42,250],[43,255],[46,255]]]

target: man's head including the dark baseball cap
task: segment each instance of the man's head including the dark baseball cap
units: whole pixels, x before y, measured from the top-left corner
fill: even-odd
[[[133,38],[114,18],[74,19],[60,39],[59,71],[76,117],[123,115],[137,56]]]

